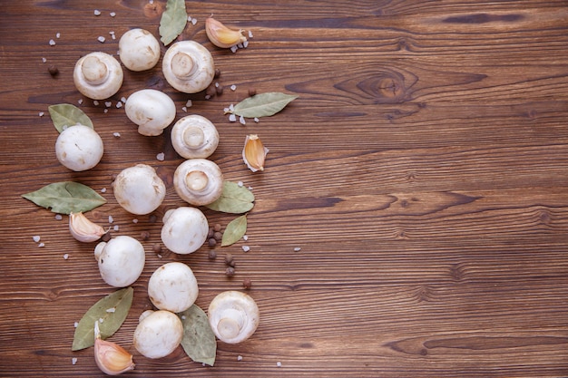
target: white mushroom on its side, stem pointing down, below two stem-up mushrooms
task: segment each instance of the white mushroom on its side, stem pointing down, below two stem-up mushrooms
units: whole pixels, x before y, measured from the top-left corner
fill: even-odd
[[[138,125],[138,132],[156,136],[175,119],[175,103],[164,92],[142,89],[133,92],[124,105],[128,119]]]

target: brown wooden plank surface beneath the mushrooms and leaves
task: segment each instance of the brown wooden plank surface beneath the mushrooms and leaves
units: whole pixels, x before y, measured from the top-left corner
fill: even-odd
[[[164,5],[2,5],[0,376],[103,376],[92,348],[71,351],[73,323],[114,290],[99,276],[94,245],[75,241],[66,217],[20,197],[62,180],[107,189],[107,204],[88,215],[104,227],[112,216],[120,227],[113,235],[150,232],[132,310],[111,339],[134,354],[127,376],[568,376],[568,2],[188,1],[197,24],[181,39],[211,51],[223,94],[175,92],[160,68],[125,71],[104,113],[74,89],[75,61],[95,50],[115,54],[132,27],[158,35]],[[249,47],[230,53],[209,43],[211,14],[251,30]],[[299,99],[258,124],[230,123],[223,108],[250,87]],[[182,160],[167,132],[142,137],[115,107],[142,88],[170,94],[178,118],[191,99],[189,112],[217,125],[211,159],[256,195],[250,252],[244,242],[217,247],[215,261],[206,246],[183,257],[152,252],[163,211],[183,205],[171,187]],[[55,159],[47,107],[79,100],[105,154],[93,170],[73,173]],[[263,173],[240,158],[248,133],[270,150]],[[139,162],[168,185],[155,222],[113,198],[113,174]],[[223,228],[234,218],[205,213]],[[237,261],[232,278],[226,253]],[[219,342],[214,367],[181,348],[152,361],[132,347],[138,315],[151,308],[148,278],[168,261],[193,269],[202,308],[252,282],[260,327],[244,344]]]

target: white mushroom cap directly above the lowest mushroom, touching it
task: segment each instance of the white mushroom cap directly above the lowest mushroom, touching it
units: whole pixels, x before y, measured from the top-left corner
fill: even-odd
[[[181,313],[193,305],[199,294],[191,267],[171,262],[157,268],[148,281],[148,296],[160,310]]]

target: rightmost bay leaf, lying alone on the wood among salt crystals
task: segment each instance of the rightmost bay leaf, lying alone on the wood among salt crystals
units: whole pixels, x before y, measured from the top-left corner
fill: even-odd
[[[259,93],[239,102],[230,112],[246,118],[269,117],[297,98],[298,96],[281,92]]]

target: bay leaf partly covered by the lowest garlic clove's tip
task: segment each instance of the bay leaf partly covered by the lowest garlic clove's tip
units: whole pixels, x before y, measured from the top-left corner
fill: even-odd
[[[75,328],[72,351],[79,351],[94,344],[94,322],[99,321],[101,338],[112,336],[121,327],[130,311],[134,289],[125,287],[104,296],[91,306]]]

